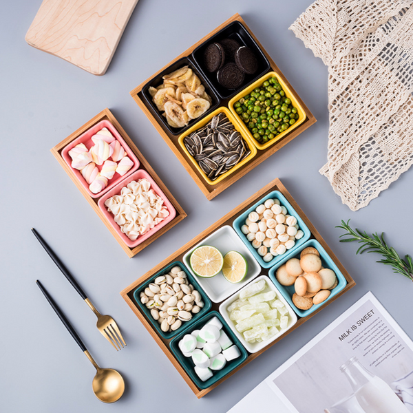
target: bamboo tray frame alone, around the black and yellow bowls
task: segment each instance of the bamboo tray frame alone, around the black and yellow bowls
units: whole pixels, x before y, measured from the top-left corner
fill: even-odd
[[[238,169],[237,171],[231,173],[227,178],[222,180],[222,182],[219,182],[218,184],[215,185],[210,185],[208,184],[204,178],[202,178],[200,172],[195,169],[193,166],[191,160],[189,160],[188,156],[186,153],[184,153],[184,150],[178,143],[178,136],[172,135],[167,129],[162,127],[162,125],[158,122],[156,119],[156,115],[153,112],[153,109],[145,103],[145,98],[142,96],[142,89],[143,87],[151,81],[152,78],[156,77],[160,72],[163,70],[167,69],[170,65],[172,65],[174,62],[178,61],[178,59],[181,59],[182,57],[189,56],[193,50],[195,50],[196,47],[204,43],[204,41],[207,41],[211,36],[213,36],[215,33],[219,32],[222,28],[224,28],[226,25],[233,21],[240,21],[246,28],[246,30],[251,34],[257,45],[260,47],[266,58],[268,59],[271,67],[268,70],[268,72],[275,71],[279,74],[279,77],[282,78],[284,83],[288,86],[288,89],[292,92],[292,94],[295,96],[295,98],[298,100],[299,104],[301,107],[304,109],[304,112],[306,113],[306,120],[304,120],[304,123],[299,125],[299,127],[293,129],[290,131],[290,133],[286,134],[282,139],[278,140],[275,142],[273,145],[268,147],[267,149],[264,149],[262,151],[258,151],[257,155],[250,161],[247,162],[246,165]],[[173,153],[175,153],[176,157],[180,160],[182,165],[184,166],[185,169],[187,169],[189,175],[195,180],[196,184],[198,184],[198,187],[200,187],[202,193],[207,197],[208,200],[212,200],[220,194],[222,191],[224,191],[226,188],[230,187],[234,182],[242,178],[246,173],[254,169],[257,165],[260,165],[261,162],[269,158],[271,155],[273,155],[275,152],[277,152],[279,149],[284,147],[288,142],[296,138],[301,132],[306,130],[308,127],[313,125],[314,123],[317,122],[316,118],[313,116],[313,114],[310,112],[308,107],[304,105],[304,102],[301,100],[301,98],[298,96],[297,92],[295,92],[294,88],[288,83],[286,77],[284,74],[282,74],[281,70],[277,67],[277,65],[274,63],[273,59],[269,56],[269,54],[264,50],[264,47],[262,47],[261,43],[257,40],[257,38],[254,36],[254,34],[251,32],[251,30],[248,28],[240,14],[234,14],[233,17],[222,23],[222,25],[218,26],[215,30],[213,30],[211,33],[207,34],[207,36],[204,36],[200,41],[195,43],[193,46],[189,47],[189,49],[185,50],[182,54],[180,54],[176,59],[168,63],[165,67],[162,67],[161,70],[156,72],[151,78],[148,78],[145,82],[141,83],[138,87],[136,87],[134,90],[130,92],[131,96],[134,98],[136,103],[138,103],[140,109],[145,113],[145,115],[149,118],[153,126],[156,128],[156,130],[159,132],[160,136],[167,142],[169,147],[172,149]],[[228,102],[230,99],[224,99],[220,100],[220,106],[225,106],[228,107]],[[198,120],[201,120],[202,118],[199,118]]]

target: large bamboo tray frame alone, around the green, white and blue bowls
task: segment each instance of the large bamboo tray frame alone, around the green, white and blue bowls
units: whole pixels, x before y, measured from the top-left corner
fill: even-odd
[[[138,307],[138,305],[135,304],[134,291],[136,290],[136,288],[138,288],[138,286],[140,286],[140,284],[145,282],[145,280],[147,280],[152,275],[158,273],[158,271],[162,270],[162,268],[165,268],[171,262],[175,262],[177,260],[183,262],[182,257],[184,256],[184,254],[187,251],[189,251],[193,246],[195,246],[195,244],[198,244],[198,242],[202,241],[205,237],[207,237],[209,234],[213,233],[214,231],[216,231],[220,227],[222,227],[224,225],[230,225],[231,226],[232,223],[233,223],[233,220],[235,220],[235,218],[237,218],[237,216],[241,215],[249,207],[251,207],[253,204],[255,204],[255,202],[257,202],[260,199],[264,198],[265,195],[267,195],[268,193],[270,193],[272,191],[280,191],[286,197],[288,202],[290,202],[290,204],[293,206],[295,211],[298,213],[298,215],[304,221],[306,226],[308,226],[308,229],[310,230],[310,232],[312,234],[312,238],[317,240],[321,244],[321,246],[324,247],[324,249],[326,250],[328,255],[330,255],[330,258],[332,259],[332,261],[335,262],[335,264],[337,265],[337,267],[339,268],[339,270],[341,271],[343,276],[346,278],[347,285],[343,290],[341,290],[340,293],[335,295],[335,297],[332,297],[331,299],[326,301],[324,306],[321,306],[321,308],[317,308],[317,310],[315,310],[313,313],[311,313],[307,317],[299,318],[297,323],[295,324],[295,326],[290,328],[290,330],[286,331],[284,333],[284,335],[282,335],[281,337],[279,337],[278,339],[276,339],[272,343],[269,343],[268,346],[264,347],[262,350],[260,350],[258,352],[255,352],[253,354],[249,354],[246,361],[244,361],[244,363],[242,363],[239,367],[235,368],[235,370],[231,371],[229,374],[227,374],[225,377],[223,377],[220,381],[218,381],[215,384],[211,385],[211,387],[209,387],[205,390],[201,390],[195,385],[195,383],[193,383],[193,381],[191,380],[189,375],[184,371],[184,369],[182,368],[180,363],[178,363],[177,359],[173,356],[171,350],[169,350],[169,341],[170,341],[170,339],[163,339],[162,337],[160,337],[160,335],[158,335],[156,330],[151,326],[151,324],[148,321],[148,319],[146,318],[146,316],[140,311],[140,308]],[[260,274],[268,275],[269,269],[270,268],[268,268],[268,269],[262,268]],[[156,341],[156,343],[158,343],[158,346],[160,346],[160,348],[162,348],[162,351],[165,352],[165,354],[167,355],[168,359],[171,361],[173,366],[175,366],[175,368],[178,370],[178,372],[181,374],[181,376],[187,382],[187,384],[189,385],[191,390],[195,393],[195,395],[198,397],[198,399],[200,399],[201,397],[205,396],[205,394],[207,394],[208,392],[213,390],[213,388],[215,388],[217,385],[220,385],[220,383],[222,383],[224,380],[228,379],[232,374],[237,372],[237,370],[240,370],[240,368],[245,366],[246,363],[249,363],[250,361],[253,361],[253,359],[258,357],[260,354],[262,354],[268,348],[270,348],[275,343],[277,343],[277,341],[281,340],[283,337],[286,337],[286,335],[290,334],[290,332],[295,330],[295,328],[298,328],[299,326],[301,326],[301,324],[304,324],[308,319],[313,317],[320,310],[323,310],[324,308],[326,308],[326,306],[328,306],[328,304],[330,304],[332,301],[335,301],[335,299],[337,299],[337,297],[343,295],[344,293],[346,293],[348,290],[350,290],[350,288],[354,287],[355,285],[356,285],[356,283],[354,282],[354,280],[352,279],[350,274],[346,271],[346,268],[344,268],[343,265],[341,264],[341,262],[339,262],[339,260],[334,255],[334,253],[331,251],[330,247],[323,240],[323,238],[321,237],[321,235],[319,234],[317,229],[315,229],[315,226],[313,226],[313,224],[311,224],[310,220],[308,220],[308,218],[306,217],[304,212],[300,209],[297,202],[295,202],[295,200],[290,195],[290,193],[288,193],[288,191],[286,190],[284,185],[281,183],[281,181],[279,179],[275,179],[272,182],[270,182],[269,184],[267,184],[266,187],[260,189],[260,191],[258,191],[257,193],[252,195],[250,198],[248,198],[248,200],[242,202],[242,204],[240,204],[238,207],[233,209],[231,212],[227,213],[224,217],[222,217],[220,220],[215,222],[215,224],[209,226],[209,228],[207,228],[205,231],[202,231],[202,233],[200,233],[200,235],[193,238],[193,240],[189,241],[187,244],[182,246],[182,248],[178,249],[178,251],[176,251],[175,253],[173,253],[169,257],[167,257],[166,260],[163,260],[162,262],[160,262],[160,264],[158,264],[157,266],[152,268],[151,271],[149,271],[145,275],[142,275],[142,277],[137,279],[136,282],[131,284],[129,287],[125,288],[125,290],[123,290],[120,293],[120,295],[122,295],[122,297],[125,299],[127,304],[129,304],[130,308],[134,311],[134,313],[136,314],[138,319],[140,319],[140,321],[145,326],[145,328],[147,328],[147,330],[149,331],[149,333],[151,334],[153,339]],[[219,306],[220,306],[220,303],[212,303],[211,310],[217,310],[218,311]]]

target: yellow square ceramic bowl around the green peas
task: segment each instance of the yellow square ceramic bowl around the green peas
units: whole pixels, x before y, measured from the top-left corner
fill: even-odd
[[[241,98],[243,98],[244,96],[246,96],[247,94],[250,94],[251,92],[253,92],[253,90],[255,89],[255,87],[260,87],[262,86],[262,83],[264,83],[265,81],[268,81],[269,78],[272,78],[273,76],[275,76],[278,81],[279,84],[282,86],[282,89],[284,90],[284,92],[286,92],[286,96],[288,98],[290,98],[291,103],[294,107],[297,107],[297,113],[299,118],[295,121],[294,125],[291,125],[288,129],[286,129],[285,131],[283,131],[281,134],[275,136],[275,138],[268,140],[268,142],[261,144],[260,142],[258,142],[257,140],[255,140],[255,138],[253,137],[253,134],[251,134],[251,131],[249,131],[248,127],[245,125],[244,121],[240,118],[240,115],[237,114],[237,112],[235,112],[235,108],[234,108],[234,104],[235,102],[237,102],[238,100],[240,100]],[[291,93],[290,89],[288,88],[288,86],[286,85],[286,83],[282,80],[282,78],[279,76],[279,74],[277,74],[277,72],[268,72],[267,74],[265,74],[264,76],[262,76],[262,78],[259,78],[256,82],[254,82],[252,85],[249,85],[246,89],[244,89],[242,92],[240,92],[239,94],[235,95],[230,101],[229,101],[229,109],[231,110],[231,114],[233,114],[233,116],[235,117],[235,119],[242,125],[245,133],[248,135],[248,137],[253,141],[254,145],[258,148],[258,149],[266,149],[269,146],[273,145],[275,142],[277,142],[277,140],[280,140],[283,136],[286,136],[286,134],[289,134],[290,131],[292,131],[293,129],[295,129],[297,126],[301,125],[301,123],[304,122],[304,120],[306,120],[306,112],[304,112],[304,109],[301,107],[301,105],[297,102],[297,99],[295,98],[295,96],[293,95],[293,93]]]

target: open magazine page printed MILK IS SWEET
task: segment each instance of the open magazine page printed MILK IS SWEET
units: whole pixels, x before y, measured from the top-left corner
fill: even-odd
[[[228,413],[413,413],[413,341],[367,293]]]

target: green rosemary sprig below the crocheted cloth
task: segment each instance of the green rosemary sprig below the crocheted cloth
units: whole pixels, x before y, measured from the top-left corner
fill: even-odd
[[[399,254],[396,253],[396,250],[394,250],[392,246],[388,246],[385,242],[384,233],[381,233],[381,236],[377,235],[377,233],[373,233],[370,236],[366,233],[366,231],[362,232],[357,228],[354,231],[354,229],[352,229],[348,224],[349,222],[350,220],[347,222],[341,220],[341,225],[336,226],[336,228],[341,228],[344,231],[347,231],[347,233],[340,235],[340,238],[345,236],[349,237],[340,240],[340,242],[359,242],[361,246],[357,250],[356,254],[362,254],[365,252],[380,254],[383,257],[383,260],[379,260],[377,262],[392,266],[394,273],[404,275],[413,281],[413,260],[410,255],[405,255],[403,260]]]

